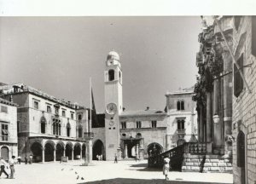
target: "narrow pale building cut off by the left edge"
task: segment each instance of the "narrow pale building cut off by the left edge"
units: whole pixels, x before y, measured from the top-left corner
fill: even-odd
[[[0,98],[0,157],[18,155],[17,105]]]

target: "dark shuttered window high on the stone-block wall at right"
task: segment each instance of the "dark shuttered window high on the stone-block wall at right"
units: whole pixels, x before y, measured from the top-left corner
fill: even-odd
[[[241,94],[241,91],[243,89],[243,81],[240,75],[239,70],[243,73],[243,54],[240,56],[240,58],[237,60],[238,67],[236,67],[236,64],[234,64],[234,95],[238,97]]]

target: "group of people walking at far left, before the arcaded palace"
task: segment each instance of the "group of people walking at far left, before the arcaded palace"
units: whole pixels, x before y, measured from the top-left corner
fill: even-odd
[[[29,160],[25,157],[25,164],[29,161],[29,164],[32,164],[32,155],[29,156]],[[0,158],[0,177],[2,173],[6,175],[6,178],[14,179],[15,178],[15,164],[21,163],[21,157],[19,156],[15,159],[15,156],[9,159],[9,163],[7,163],[3,158]],[[10,174],[6,172],[6,169],[10,170]]]

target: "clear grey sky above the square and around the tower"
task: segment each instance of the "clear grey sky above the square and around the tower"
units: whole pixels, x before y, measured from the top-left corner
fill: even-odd
[[[104,112],[108,52],[120,55],[125,109],[164,110],[166,92],[195,84],[200,16],[0,17],[0,82]]]

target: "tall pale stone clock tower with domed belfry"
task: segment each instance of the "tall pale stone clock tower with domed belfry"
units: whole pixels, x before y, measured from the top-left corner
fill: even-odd
[[[106,160],[113,160],[119,152],[119,113],[123,111],[122,71],[119,55],[111,51],[108,53],[104,81],[105,81],[105,137]]]

